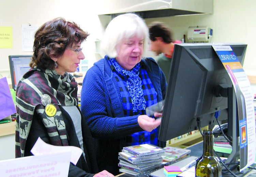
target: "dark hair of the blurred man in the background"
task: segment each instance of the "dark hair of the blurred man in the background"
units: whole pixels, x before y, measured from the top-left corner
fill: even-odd
[[[173,42],[172,33],[167,26],[162,22],[154,22],[149,26],[149,38],[155,41],[155,37],[162,37],[167,44]]]

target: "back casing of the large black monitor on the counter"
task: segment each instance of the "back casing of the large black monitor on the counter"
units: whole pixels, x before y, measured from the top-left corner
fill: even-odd
[[[221,111],[220,121],[227,119],[227,98],[216,97],[215,91],[221,84],[232,87],[232,82],[212,45],[229,45],[243,65],[245,44],[176,44],[160,125],[161,141],[196,130],[197,119],[201,127],[216,125],[216,111]]]

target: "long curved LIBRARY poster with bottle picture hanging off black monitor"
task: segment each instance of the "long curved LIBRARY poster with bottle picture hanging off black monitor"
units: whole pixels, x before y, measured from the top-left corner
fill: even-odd
[[[235,88],[240,133],[240,171],[255,163],[255,117],[251,84],[230,46],[212,46]]]

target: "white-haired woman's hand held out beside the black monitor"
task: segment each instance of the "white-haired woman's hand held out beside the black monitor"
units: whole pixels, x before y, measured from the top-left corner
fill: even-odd
[[[152,130],[156,129],[156,127],[160,126],[161,119],[154,119],[147,115],[139,115],[138,124],[143,130],[151,132]]]

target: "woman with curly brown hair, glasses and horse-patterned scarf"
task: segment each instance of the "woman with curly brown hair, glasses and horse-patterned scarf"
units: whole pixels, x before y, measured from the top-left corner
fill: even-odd
[[[92,137],[78,108],[76,71],[85,58],[81,43],[89,34],[72,21],[56,18],[35,33],[31,69],[21,78],[16,91],[17,157],[31,156],[40,137],[56,146],[76,146],[83,153],[69,176],[114,177],[97,167]],[[26,125],[26,126],[21,126]]]

